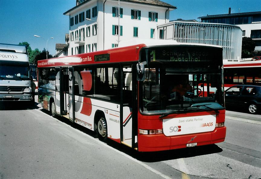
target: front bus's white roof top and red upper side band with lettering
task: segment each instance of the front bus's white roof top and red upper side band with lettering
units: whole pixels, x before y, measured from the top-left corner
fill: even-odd
[[[138,43],[140,42],[140,44]],[[173,40],[142,40],[142,41],[122,41],[121,45],[108,50],[101,50],[85,54],[77,54],[66,57],[51,58],[39,60],[37,67],[63,67],[72,65],[101,64],[101,63],[124,63],[135,62],[139,60],[139,52],[142,47],[160,46],[160,45],[197,45],[220,47],[217,45],[178,43]],[[125,46],[126,45],[126,46]]]

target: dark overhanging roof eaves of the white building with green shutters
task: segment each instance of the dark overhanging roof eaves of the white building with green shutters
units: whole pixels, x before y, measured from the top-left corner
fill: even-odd
[[[92,0],[85,0],[84,2],[82,2],[81,4],[69,9],[68,11],[64,12],[63,15],[69,15],[68,13],[73,11],[74,9],[78,8],[81,5],[84,5],[87,2],[90,2]],[[118,0],[114,0],[114,1],[118,1]],[[138,4],[145,4],[145,5],[154,5],[154,6],[159,6],[159,7],[164,7],[164,8],[169,8],[170,10],[174,10],[177,7],[170,5],[166,2],[162,2],[159,0],[120,0],[121,2],[130,2],[130,3],[138,3]]]

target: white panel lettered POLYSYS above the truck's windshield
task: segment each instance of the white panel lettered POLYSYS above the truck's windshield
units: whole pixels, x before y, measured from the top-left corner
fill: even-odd
[[[6,61],[20,61],[28,62],[28,56],[26,54],[14,53],[14,52],[2,52],[0,51],[0,60]]]

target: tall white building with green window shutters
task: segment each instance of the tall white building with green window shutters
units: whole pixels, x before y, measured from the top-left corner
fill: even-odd
[[[118,2],[76,0],[76,6],[63,13],[69,15],[68,55],[105,50],[137,38],[158,39],[157,25],[169,22],[169,11],[176,9],[159,0]]]

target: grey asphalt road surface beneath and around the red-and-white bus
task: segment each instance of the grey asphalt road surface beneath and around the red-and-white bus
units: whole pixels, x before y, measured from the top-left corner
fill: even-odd
[[[0,179],[261,178],[261,116],[227,111],[217,145],[138,153],[40,106],[0,104]]]

